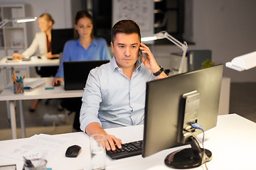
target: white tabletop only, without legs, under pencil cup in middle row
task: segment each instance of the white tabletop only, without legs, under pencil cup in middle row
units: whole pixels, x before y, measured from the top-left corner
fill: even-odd
[[[42,84],[32,90],[24,91],[23,94],[14,94],[14,89],[12,89],[13,84],[9,84],[7,88],[1,92],[0,101],[31,100],[40,98],[74,98],[81,97],[83,94],[83,90],[65,91],[63,85],[55,86],[54,89],[46,90],[46,87],[52,87],[51,81],[53,80],[53,77],[26,78],[24,81],[36,79],[44,79],[46,84]]]

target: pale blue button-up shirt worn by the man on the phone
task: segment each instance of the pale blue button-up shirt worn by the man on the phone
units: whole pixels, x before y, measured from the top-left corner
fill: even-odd
[[[82,96],[81,130],[90,123],[100,123],[102,128],[143,124],[146,81],[153,79],[152,72],[139,62],[132,78],[127,78],[114,57],[92,69]]]

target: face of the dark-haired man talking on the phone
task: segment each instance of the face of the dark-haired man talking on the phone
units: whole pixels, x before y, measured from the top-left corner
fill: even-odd
[[[137,33],[117,33],[114,44],[111,42],[112,52],[118,67],[133,68],[139,56],[139,35]]]

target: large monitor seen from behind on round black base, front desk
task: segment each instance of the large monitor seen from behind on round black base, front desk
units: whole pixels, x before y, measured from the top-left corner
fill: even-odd
[[[142,157],[191,144],[169,154],[165,164],[186,169],[210,161],[211,152],[199,147],[195,138],[201,130],[191,125],[197,123],[209,130],[217,124],[222,75],[220,64],[146,83]],[[205,154],[208,157],[202,157]]]

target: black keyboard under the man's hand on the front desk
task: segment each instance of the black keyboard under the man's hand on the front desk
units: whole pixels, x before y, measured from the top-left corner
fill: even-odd
[[[122,144],[121,149],[117,148],[114,151],[107,151],[107,154],[112,159],[121,159],[142,154],[142,140]]]

